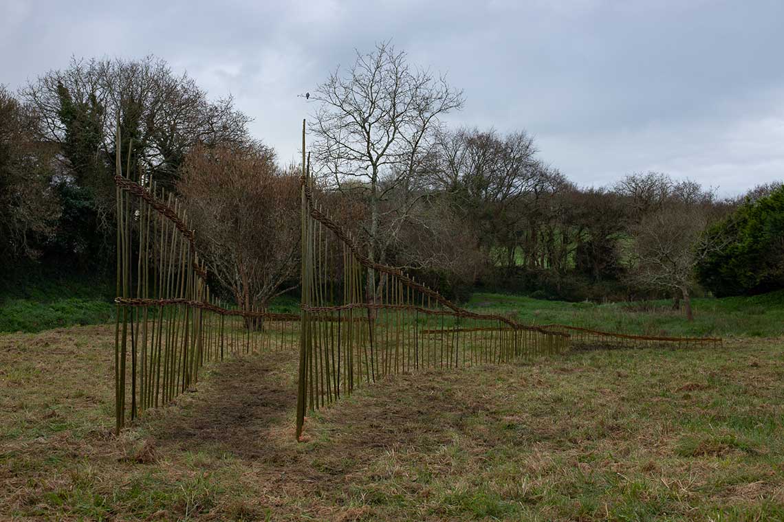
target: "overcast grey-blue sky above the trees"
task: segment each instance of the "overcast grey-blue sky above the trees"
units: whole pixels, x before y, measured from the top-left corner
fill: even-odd
[[[392,39],[448,74],[453,125],[525,129],[580,185],[663,171],[724,195],[784,178],[784,2],[0,0],[0,83],[154,54],[296,159],[297,95]]]

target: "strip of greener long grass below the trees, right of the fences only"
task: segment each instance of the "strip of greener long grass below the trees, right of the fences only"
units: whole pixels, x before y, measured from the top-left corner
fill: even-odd
[[[467,306],[512,313],[521,322],[562,323],[610,332],[652,336],[779,337],[784,335],[784,290],[754,297],[692,300],[695,320],[687,322],[672,301],[565,303],[499,293],[475,293]]]

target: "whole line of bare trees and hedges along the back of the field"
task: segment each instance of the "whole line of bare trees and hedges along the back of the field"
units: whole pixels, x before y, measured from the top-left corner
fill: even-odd
[[[448,128],[463,92],[389,44],[358,53],[309,103],[312,171],[332,213],[370,259],[453,296],[666,296],[691,316],[696,290],[784,286],[779,185],[736,200],[653,172],[579,187],[526,131]],[[0,257],[108,271],[119,148],[124,170],[183,197],[216,286],[265,306],[296,283],[299,167],[281,167],[248,122],[152,56],[74,59],[16,95],[0,89]]]

